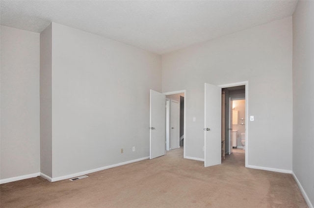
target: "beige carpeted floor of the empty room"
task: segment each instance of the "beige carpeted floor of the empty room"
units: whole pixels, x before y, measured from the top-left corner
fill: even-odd
[[[166,156],[50,183],[41,177],[0,185],[1,208],[307,208],[292,175]]]

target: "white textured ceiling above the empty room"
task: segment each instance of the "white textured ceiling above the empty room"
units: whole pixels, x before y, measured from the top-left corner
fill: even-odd
[[[1,0],[1,25],[41,32],[51,22],[168,53],[293,14],[296,0]]]

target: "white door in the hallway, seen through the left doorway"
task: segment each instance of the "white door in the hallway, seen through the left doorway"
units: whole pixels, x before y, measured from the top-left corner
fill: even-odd
[[[170,108],[171,123],[171,149],[180,148],[180,104],[175,100],[171,100]]]

